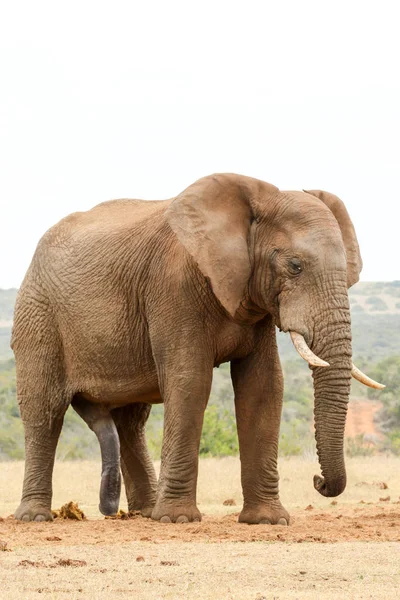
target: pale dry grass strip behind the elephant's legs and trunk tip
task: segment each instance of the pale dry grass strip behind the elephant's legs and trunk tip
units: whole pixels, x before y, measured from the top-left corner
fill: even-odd
[[[347,459],[348,484],[346,491],[337,498],[340,505],[377,502],[390,495],[392,500],[400,496],[400,458],[367,457]],[[159,463],[156,463],[157,471]],[[59,508],[74,500],[89,517],[100,518],[98,494],[100,463],[90,461],[58,462],[54,468],[53,508]],[[312,478],[319,473],[318,463],[302,458],[282,459],[281,499],[290,511],[312,504],[316,508],[330,510],[331,499],[323,498],[313,488]],[[23,480],[23,463],[0,463],[0,515],[12,514],[18,505]],[[388,490],[377,485],[385,482]],[[237,506],[224,506],[227,499],[234,499]],[[200,461],[198,503],[201,512],[222,515],[237,512],[242,503],[240,487],[240,463],[237,458],[204,459]],[[124,493],[121,508],[126,509]]]

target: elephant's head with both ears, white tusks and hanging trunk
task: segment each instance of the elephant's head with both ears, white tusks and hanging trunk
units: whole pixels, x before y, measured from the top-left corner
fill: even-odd
[[[217,174],[177,196],[167,220],[230,317],[255,322],[271,314],[310,364],[323,476],[314,486],[339,495],[351,376],[379,386],[352,365],[347,289],[362,261],[343,202],[327,192],[283,192]]]

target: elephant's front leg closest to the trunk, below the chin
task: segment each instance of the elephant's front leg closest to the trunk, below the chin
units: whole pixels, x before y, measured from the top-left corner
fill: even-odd
[[[279,500],[283,379],[275,344],[234,362],[231,372],[244,498],[239,522],[288,525],[289,514]]]

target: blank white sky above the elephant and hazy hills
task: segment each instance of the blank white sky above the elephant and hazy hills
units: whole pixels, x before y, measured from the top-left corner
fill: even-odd
[[[346,203],[364,280],[400,279],[396,1],[8,0],[0,13],[0,287],[110,198],[216,171]]]

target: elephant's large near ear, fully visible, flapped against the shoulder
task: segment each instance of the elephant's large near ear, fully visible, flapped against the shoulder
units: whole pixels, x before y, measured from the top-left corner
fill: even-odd
[[[254,202],[263,185],[276,190],[249,177],[211,175],[179,194],[166,212],[178,240],[232,316],[250,278],[248,236]]]

